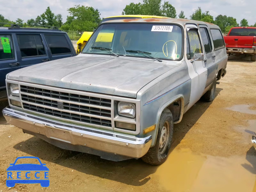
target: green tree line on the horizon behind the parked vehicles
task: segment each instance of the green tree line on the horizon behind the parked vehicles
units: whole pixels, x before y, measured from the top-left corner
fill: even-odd
[[[74,7],[68,8],[67,11],[69,16],[67,16],[66,22],[64,23],[62,22],[62,15],[54,14],[50,7],[47,7],[45,12],[38,15],[36,18],[31,18],[26,22],[21,18],[11,21],[0,14],[0,22],[20,24],[25,27],[26,25],[43,25],[57,26],[61,30],[93,31],[102,21],[99,10],[93,7],[75,5]],[[170,18],[186,18],[183,11],[177,16],[175,7],[166,1],[162,3],[162,0],[143,0],[143,3],[130,3],[125,6],[122,15],[155,15]],[[216,24],[223,33],[229,32],[232,27],[249,26],[248,20],[245,18],[242,19],[240,23],[236,21],[236,18],[226,15],[218,15],[214,19],[209,11],[203,12],[200,7],[194,10],[192,15],[190,15],[190,19]],[[0,24],[0,26],[2,25]],[[256,23],[251,26],[256,27]]]

